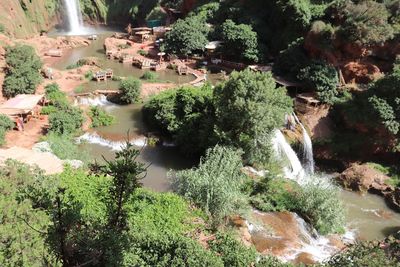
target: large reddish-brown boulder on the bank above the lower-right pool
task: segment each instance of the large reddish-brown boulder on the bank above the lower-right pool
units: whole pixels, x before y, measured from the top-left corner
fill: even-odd
[[[354,191],[375,191],[381,194],[390,192],[393,187],[386,184],[389,176],[368,166],[367,164],[352,164],[337,178],[347,189]]]

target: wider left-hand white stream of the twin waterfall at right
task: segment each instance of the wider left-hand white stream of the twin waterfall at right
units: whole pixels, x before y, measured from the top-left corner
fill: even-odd
[[[284,167],[285,176],[302,184],[305,176],[303,166],[280,130],[274,131],[272,146],[279,159],[288,161],[288,166]]]

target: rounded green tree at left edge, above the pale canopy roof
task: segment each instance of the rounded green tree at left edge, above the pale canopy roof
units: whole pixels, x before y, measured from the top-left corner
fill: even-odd
[[[31,46],[17,45],[6,49],[6,78],[3,94],[13,97],[17,94],[33,94],[41,82],[40,58]]]

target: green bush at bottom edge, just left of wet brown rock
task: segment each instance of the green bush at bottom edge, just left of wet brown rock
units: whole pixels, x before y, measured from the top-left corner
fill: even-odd
[[[246,248],[231,234],[217,233],[215,240],[209,242],[210,249],[217,253],[226,267],[252,266],[256,261],[254,248]]]

